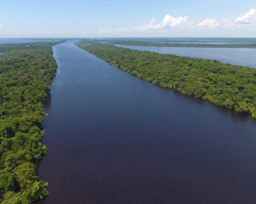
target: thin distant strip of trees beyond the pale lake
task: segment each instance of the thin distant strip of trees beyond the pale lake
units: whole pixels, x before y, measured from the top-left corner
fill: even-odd
[[[226,47],[226,48],[256,48],[252,43],[234,43],[234,44],[198,44],[198,43],[158,43],[151,41],[134,41],[134,40],[114,40],[119,45],[132,46],[150,46],[150,47]]]

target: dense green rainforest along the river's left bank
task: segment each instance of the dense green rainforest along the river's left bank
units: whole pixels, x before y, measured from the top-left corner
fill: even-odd
[[[52,46],[58,43],[0,45],[1,204],[30,204],[48,194],[35,163],[47,152],[43,103],[56,74]]]

